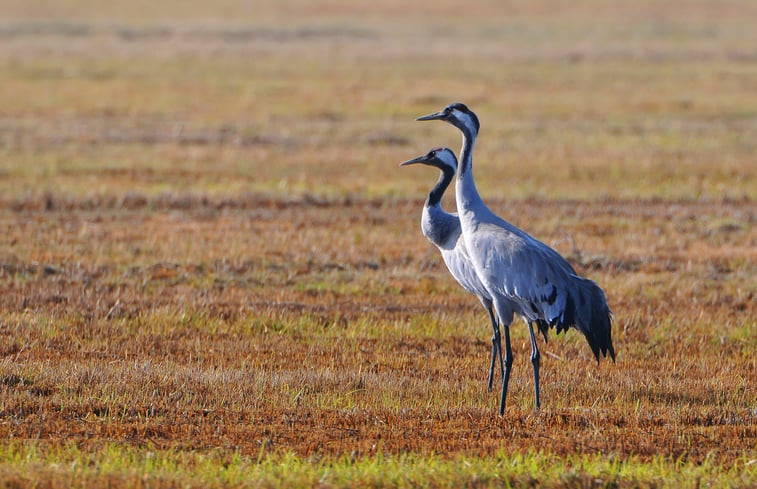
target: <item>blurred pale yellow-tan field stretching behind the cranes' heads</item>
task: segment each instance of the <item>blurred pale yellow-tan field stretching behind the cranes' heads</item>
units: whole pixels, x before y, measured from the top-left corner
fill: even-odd
[[[757,3],[0,2],[0,199],[754,199]]]

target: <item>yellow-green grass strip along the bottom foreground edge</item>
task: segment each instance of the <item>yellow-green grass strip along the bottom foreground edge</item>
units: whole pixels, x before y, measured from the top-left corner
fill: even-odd
[[[491,457],[404,454],[332,458],[242,455],[217,449],[148,450],[120,444],[9,443],[0,448],[4,487],[751,487],[754,460],[723,466],[655,457],[560,457],[546,452]]]

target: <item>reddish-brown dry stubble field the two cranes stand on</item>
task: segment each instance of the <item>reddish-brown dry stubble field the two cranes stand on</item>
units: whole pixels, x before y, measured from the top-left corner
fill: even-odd
[[[755,439],[753,204],[498,203],[605,286],[619,351],[596,367],[553,339],[535,413],[516,324],[500,418],[484,317],[418,238],[417,201],[134,201],[8,213],[6,437],[729,463]]]

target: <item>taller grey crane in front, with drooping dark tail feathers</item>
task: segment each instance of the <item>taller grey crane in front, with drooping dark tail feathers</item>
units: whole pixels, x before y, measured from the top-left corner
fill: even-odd
[[[492,298],[505,334],[505,365],[499,412],[505,412],[507,385],[513,363],[510,324],[514,314],[524,318],[528,324],[538,408],[541,404],[540,355],[533,324],[537,324],[545,339],[550,327],[555,327],[557,333],[575,327],[586,337],[597,363],[600,352],[604,356],[609,353],[615,361],[611,335],[612,313],[605,293],[593,281],[579,276],[555,250],[500,218],[484,204],[473,180],[473,145],[480,128],[476,114],[464,104],[454,103],[417,120],[446,121],[462,132],[460,167],[455,183],[460,227],[476,274]]]

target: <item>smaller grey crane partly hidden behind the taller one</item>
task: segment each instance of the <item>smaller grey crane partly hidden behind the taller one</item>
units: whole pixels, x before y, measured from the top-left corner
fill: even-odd
[[[492,298],[486,287],[484,287],[484,284],[479,280],[476,270],[473,268],[473,263],[468,256],[465,241],[461,236],[460,218],[457,217],[457,214],[450,214],[442,208],[442,196],[455,177],[455,172],[457,172],[457,158],[455,158],[455,153],[449,148],[436,148],[423,156],[418,156],[401,163],[400,166],[418,163],[435,166],[440,170],[439,180],[431,189],[431,192],[429,192],[426,203],[423,205],[421,231],[423,231],[423,235],[429,241],[439,248],[444,264],[447,265],[449,273],[457,280],[457,283],[478,297],[478,300],[481,301],[484,309],[489,314],[489,320],[492,323],[494,335],[492,336],[492,358],[489,367],[488,382],[488,390],[491,391],[494,379],[494,364],[497,357],[499,357],[500,375],[503,375],[504,371],[501,336],[499,325],[492,309]]]

